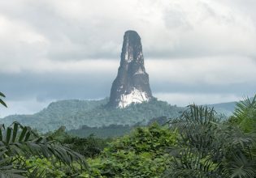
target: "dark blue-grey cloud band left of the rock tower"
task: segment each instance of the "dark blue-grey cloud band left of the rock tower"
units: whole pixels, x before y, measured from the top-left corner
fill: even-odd
[[[111,74],[1,74],[7,100],[98,99],[110,93]]]

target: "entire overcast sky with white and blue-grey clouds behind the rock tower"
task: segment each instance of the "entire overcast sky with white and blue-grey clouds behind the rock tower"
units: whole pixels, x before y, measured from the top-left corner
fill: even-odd
[[[110,95],[124,32],[141,36],[153,95],[214,104],[256,91],[255,0],[0,1],[0,117]]]

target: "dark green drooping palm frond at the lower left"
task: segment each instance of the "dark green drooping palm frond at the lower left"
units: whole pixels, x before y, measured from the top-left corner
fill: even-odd
[[[54,145],[53,140],[38,136],[27,126],[14,122],[7,129],[0,125],[0,145],[7,149],[7,155],[54,156],[60,162],[71,165],[73,161],[85,163],[82,155],[65,146]]]

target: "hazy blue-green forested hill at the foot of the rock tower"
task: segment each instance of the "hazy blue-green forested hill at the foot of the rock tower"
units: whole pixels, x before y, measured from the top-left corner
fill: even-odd
[[[48,132],[65,126],[67,130],[80,129],[83,125],[102,127],[108,125],[147,125],[154,117],[178,117],[184,108],[171,106],[167,102],[152,99],[142,104],[131,104],[126,108],[106,107],[104,100],[61,100],[49,104],[33,115],[11,115],[1,122],[11,125],[19,121],[40,132]]]

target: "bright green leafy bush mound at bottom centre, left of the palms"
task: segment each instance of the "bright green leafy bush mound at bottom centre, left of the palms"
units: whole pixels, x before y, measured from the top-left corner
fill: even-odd
[[[171,158],[166,150],[176,144],[176,132],[151,125],[137,128],[106,147],[97,159],[90,159],[95,177],[161,177]]]

